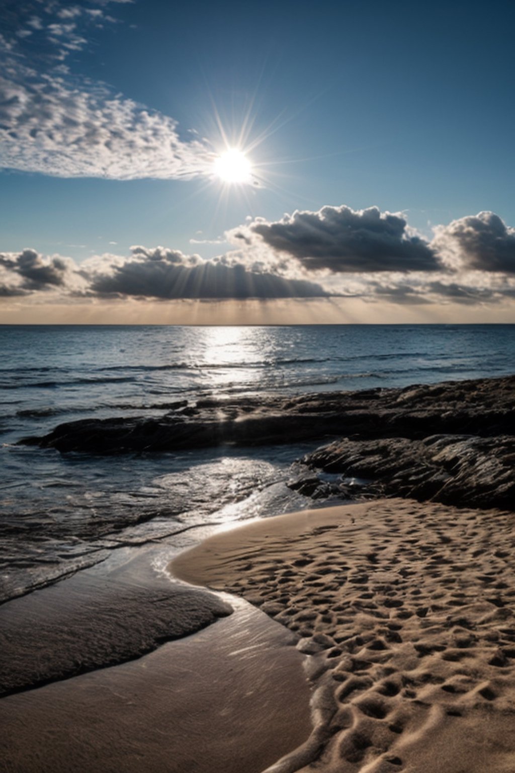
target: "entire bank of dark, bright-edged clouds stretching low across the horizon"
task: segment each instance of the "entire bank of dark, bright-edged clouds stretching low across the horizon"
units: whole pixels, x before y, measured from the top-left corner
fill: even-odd
[[[273,228],[286,227],[286,220],[290,223],[289,254],[284,249],[286,237],[283,231],[277,232]],[[307,222],[312,223],[310,229]],[[347,223],[348,227],[342,223]],[[263,230],[268,242],[256,229]],[[309,248],[300,242],[300,235],[308,230]],[[277,233],[281,233],[281,237]],[[344,247],[334,247],[330,252],[328,233],[333,234],[335,245],[336,233],[347,233]],[[233,230],[229,237],[242,242],[242,247],[208,261],[199,255],[185,255],[168,247],[132,247],[129,256],[104,254],[91,257],[82,264],[76,264],[69,257],[43,256],[32,249],[0,253],[0,297],[40,292],[44,292],[46,298],[127,300],[333,296],[398,305],[493,305],[515,298],[515,230],[493,213],[479,213],[455,220],[448,226],[437,226],[431,250],[422,239],[412,236],[400,216],[381,215],[378,209],[355,213],[348,207],[324,207],[319,213],[294,213],[291,217],[286,216],[282,223],[253,220]],[[273,243],[274,249],[270,248],[269,242]],[[359,243],[360,261],[334,257],[338,250],[340,256],[344,250],[350,250],[351,243]],[[380,245],[374,255],[372,243]],[[398,259],[390,261],[388,256],[393,250],[386,249],[388,243],[406,243],[412,271],[400,270]],[[281,248],[278,245],[282,245]],[[311,255],[318,252],[318,257],[302,257],[308,249]],[[430,261],[424,250],[429,250]],[[425,255],[424,260],[414,259],[417,251]],[[399,254],[401,247],[397,250]],[[359,263],[361,270],[351,271],[353,261]],[[429,271],[430,265],[432,271]],[[313,266],[320,271],[310,272]],[[320,284],[308,278],[317,278]]]

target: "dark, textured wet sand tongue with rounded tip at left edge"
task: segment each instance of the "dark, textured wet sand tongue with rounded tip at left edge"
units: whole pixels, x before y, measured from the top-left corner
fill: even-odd
[[[0,607],[0,695],[116,666],[230,615],[215,594],[152,568],[171,553],[119,550]],[[173,555],[173,553],[171,553]]]

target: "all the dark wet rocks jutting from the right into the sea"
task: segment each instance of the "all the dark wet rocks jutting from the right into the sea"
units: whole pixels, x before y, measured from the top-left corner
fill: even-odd
[[[292,488],[331,495],[403,496],[448,505],[513,508],[515,376],[404,389],[234,400],[183,400],[163,417],[59,424],[23,444],[113,455],[331,441],[296,465]],[[324,475],[341,475],[327,484]],[[358,489],[344,481],[358,476]]]

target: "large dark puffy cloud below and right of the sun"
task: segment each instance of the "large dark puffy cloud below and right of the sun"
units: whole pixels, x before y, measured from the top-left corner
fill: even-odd
[[[318,212],[285,215],[268,222],[256,218],[228,237],[247,246],[261,241],[290,255],[308,271],[436,271],[432,247],[409,229],[400,215],[377,207],[355,211],[348,206],[324,206]]]

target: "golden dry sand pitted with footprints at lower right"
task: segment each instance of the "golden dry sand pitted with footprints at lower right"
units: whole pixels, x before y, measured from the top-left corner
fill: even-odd
[[[513,773],[514,549],[513,513],[383,499],[220,533],[171,572],[312,656],[317,743],[271,770]]]

